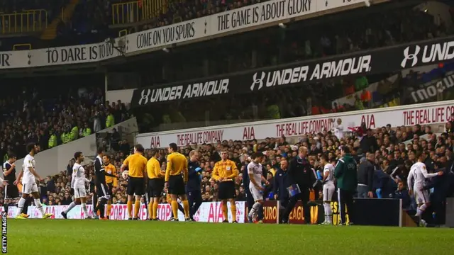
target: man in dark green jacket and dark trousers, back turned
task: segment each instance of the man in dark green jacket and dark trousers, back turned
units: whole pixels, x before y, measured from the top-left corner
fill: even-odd
[[[353,159],[350,154],[350,148],[347,146],[341,147],[342,158],[338,160],[336,164],[336,169],[334,169],[334,176],[337,179],[338,183],[338,203],[341,207],[339,213],[341,214],[341,224],[345,225],[345,205],[348,208],[348,220],[349,225],[353,224],[354,212],[353,210],[353,195],[356,191],[356,186],[358,186],[358,177],[357,177],[357,164],[355,159]]]

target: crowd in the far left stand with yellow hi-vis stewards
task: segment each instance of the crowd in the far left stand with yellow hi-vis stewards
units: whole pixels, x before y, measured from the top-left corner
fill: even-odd
[[[71,77],[54,79],[55,86],[47,79],[4,80],[16,86],[0,96],[1,160],[6,161],[9,152],[24,157],[29,142],[43,151],[128,119],[121,101],[104,104],[102,86],[83,87],[80,79]]]

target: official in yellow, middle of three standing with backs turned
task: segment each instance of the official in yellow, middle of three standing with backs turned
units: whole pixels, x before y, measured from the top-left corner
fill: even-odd
[[[159,151],[153,149],[151,151],[151,159],[147,163],[148,174],[148,220],[159,220],[157,218],[157,205],[159,205],[159,198],[161,197],[162,190],[164,189],[165,173],[161,172]]]

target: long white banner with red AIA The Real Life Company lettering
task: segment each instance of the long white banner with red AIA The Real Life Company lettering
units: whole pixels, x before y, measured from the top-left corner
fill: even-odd
[[[266,137],[297,137],[323,130],[333,130],[341,119],[344,130],[366,123],[367,128],[381,128],[409,125],[444,124],[453,120],[454,101],[421,103],[410,106],[377,108],[365,111],[351,111],[326,115],[305,116],[279,120],[264,120],[251,123],[218,125],[187,130],[171,130],[139,134],[136,142],[145,148],[164,148],[171,142],[178,146],[201,145],[223,140],[262,140]]]

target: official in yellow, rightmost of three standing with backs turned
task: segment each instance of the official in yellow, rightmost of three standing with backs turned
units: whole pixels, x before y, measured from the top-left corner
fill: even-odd
[[[165,186],[167,193],[172,198],[172,221],[178,221],[178,202],[179,197],[182,200],[184,208],[184,218],[191,221],[189,217],[189,202],[187,201],[186,190],[184,185],[187,183],[187,159],[183,154],[177,152],[178,147],[175,142],[169,145],[169,155],[167,155],[167,169],[165,169]]]

